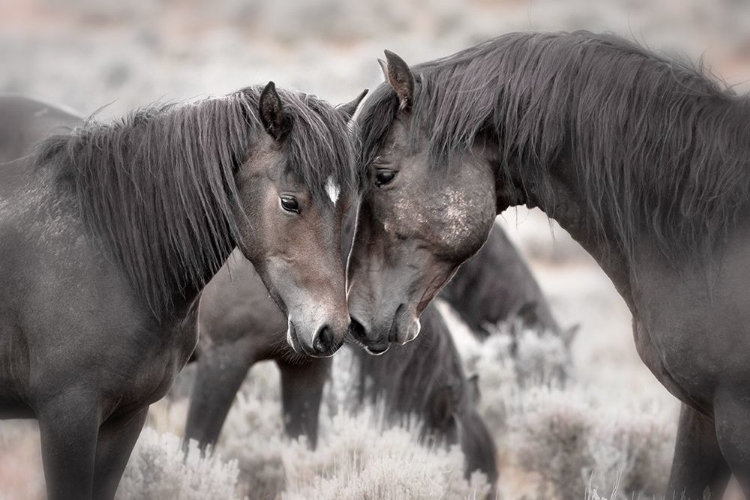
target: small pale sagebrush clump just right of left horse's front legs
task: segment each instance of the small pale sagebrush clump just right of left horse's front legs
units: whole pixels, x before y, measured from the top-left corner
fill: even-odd
[[[236,461],[218,454],[204,456],[195,441],[187,453],[181,439],[144,429],[125,469],[118,500],[240,499]]]

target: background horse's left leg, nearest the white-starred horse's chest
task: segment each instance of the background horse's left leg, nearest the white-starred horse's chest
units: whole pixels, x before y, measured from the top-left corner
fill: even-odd
[[[216,444],[252,364],[253,359],[234,344],[207,349],[201,354],[185,424],[185,447],[191,439],[198,441],[201,449]]]

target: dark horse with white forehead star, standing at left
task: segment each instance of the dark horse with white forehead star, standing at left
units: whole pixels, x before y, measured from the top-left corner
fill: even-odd
[[[36,418],[50,499],[112,498],[239,247],[329,355],[349,315],[346,117],[273,83],[85,123],[0,165],[0,417]]]

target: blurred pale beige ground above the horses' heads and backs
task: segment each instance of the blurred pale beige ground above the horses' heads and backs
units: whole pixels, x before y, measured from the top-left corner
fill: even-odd
[[[508,31],[612,31],[750,77],[745,0],[2,0],[0,90],[117,115],[273,79],[332,101]]]

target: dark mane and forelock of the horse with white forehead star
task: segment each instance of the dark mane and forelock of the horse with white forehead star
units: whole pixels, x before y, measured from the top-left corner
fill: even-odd
[[[157,104],[112,123],[88,119],[37,149],[57,165],[81,217],[157,318],[175,297],[201,289],[237,245],[235,173],[265,134],[260,86],[193,103]],[[292,130],[286,169],[316,200],[332,179],[353,189],[345,119],[310,95],[279,89]]]

